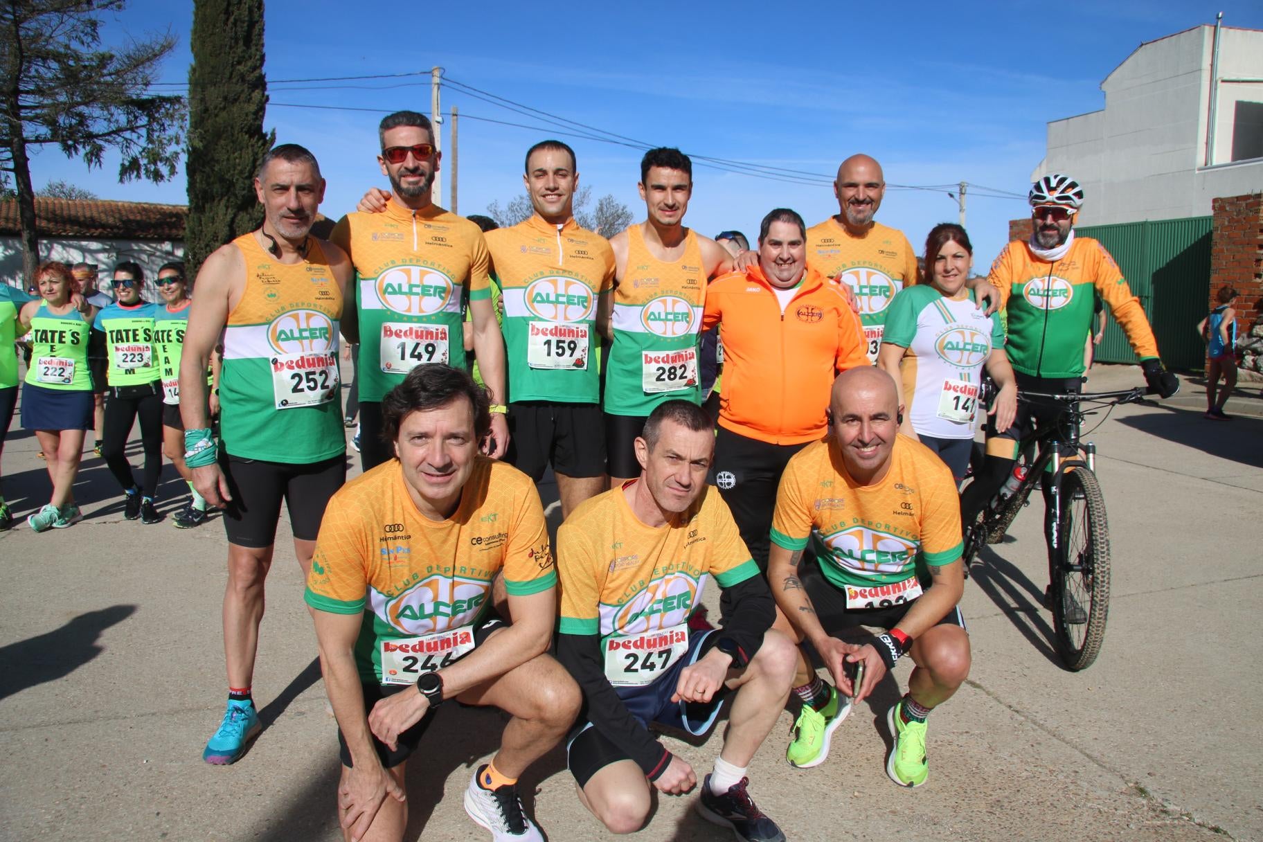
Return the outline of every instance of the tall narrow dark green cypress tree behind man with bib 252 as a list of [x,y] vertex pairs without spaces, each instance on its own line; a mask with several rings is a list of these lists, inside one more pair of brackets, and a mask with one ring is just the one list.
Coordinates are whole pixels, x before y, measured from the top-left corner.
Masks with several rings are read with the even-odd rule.
[[184,247],[192,278],[207,255],[263,220],[254,170],[273,141],[263,131],[263,0],[196,0],[189,45]]

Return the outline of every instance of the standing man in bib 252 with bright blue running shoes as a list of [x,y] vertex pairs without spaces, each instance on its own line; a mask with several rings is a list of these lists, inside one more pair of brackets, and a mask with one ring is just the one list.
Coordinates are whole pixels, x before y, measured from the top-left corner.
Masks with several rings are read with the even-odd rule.
[[[316,157],[298,144],[264,155],[254,178],[263,225],[220,246],[197,273],[179,360],[184,465],[224,510],[229,581],[224,655],[229,698],[206,762],[236,762],[261,730],[251,683],[280,505],[303,574],[330,497],[346,480],[337,345],[351,263],[311,236],[325,198]],[[355,341],[355,326],[341,332]],[[206,369],[222,345],[220,442]]]

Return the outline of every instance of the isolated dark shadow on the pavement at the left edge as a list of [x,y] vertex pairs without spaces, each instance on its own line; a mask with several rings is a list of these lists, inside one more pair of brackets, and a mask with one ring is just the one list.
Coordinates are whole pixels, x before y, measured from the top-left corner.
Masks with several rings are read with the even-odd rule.
[[134,605],[88,611],[48,634],[0,646],[0,699],[69,675],[101,654],[102,631],[135,612]]

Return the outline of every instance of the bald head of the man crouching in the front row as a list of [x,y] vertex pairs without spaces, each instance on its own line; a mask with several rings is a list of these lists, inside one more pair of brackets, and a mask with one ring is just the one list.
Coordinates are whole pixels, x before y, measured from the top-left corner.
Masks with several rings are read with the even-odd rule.
[[899,434],[899,393],[882,369],[860,366],[837,375],[830,395],[831,433],[846,472],[860,485],[885,476]]

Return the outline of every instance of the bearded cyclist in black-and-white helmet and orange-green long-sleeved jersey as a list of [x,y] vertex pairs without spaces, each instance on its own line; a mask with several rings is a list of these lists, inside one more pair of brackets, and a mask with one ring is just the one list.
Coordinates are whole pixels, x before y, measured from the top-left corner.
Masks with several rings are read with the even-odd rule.
[[[1180,380],[1162,366],[1158,343],[1118,264],[1096,240],[1076,237],[1075,216],[1084,188],[1068,175],[1045,175],[1031,187],[1031,239],[1005,246],[988,280],[1000,290],[1008,312],[1009,362],[1019,391],[1075,393],[1082,388],[1084,343],[1092,327],[1094,295],[1109,305],[1140,357],[1144,379],[1163,398],[1180,389]],[[1005,430],[986,429],[986,462],[961,497],[961,518],[973,524],[986,501],[1013,471],[1018,442],[1032,423],[1052,424],[1058,409],[1018,404],[1017,418]],[[1050,526],[1050,490],[1045,490],[1045,533]],[[1051,558],[1050,558],[1051,564]],[[1068,597],[1067,597],[1068,598]],[[1066,606],[1068,622],[1086,622],[1077,606]]]

